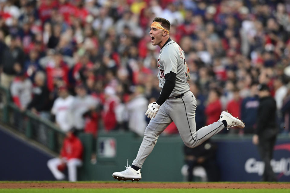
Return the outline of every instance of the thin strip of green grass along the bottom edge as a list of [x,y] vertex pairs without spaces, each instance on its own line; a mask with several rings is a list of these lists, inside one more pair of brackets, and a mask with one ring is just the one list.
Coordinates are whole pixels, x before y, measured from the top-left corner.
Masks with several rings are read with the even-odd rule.
[[51,189],[0,189],[1,193],[289,193],[289,189],[137,189],[137,188],[99,188],[99,189],[63,189],[63,188],[51,188]]

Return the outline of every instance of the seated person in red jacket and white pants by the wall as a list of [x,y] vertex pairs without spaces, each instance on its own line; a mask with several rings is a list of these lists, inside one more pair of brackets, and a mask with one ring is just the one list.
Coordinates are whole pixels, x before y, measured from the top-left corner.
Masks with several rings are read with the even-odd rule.
[[66,138],[63,140],[63,147],[60,151],[60,157],[48,160],[47,166],[57,180],[65,179],[63,170],[67,167],[69,181],[77,180],[77,167],[82,166],[82,142],[74,134],[74,129],[66,132]]

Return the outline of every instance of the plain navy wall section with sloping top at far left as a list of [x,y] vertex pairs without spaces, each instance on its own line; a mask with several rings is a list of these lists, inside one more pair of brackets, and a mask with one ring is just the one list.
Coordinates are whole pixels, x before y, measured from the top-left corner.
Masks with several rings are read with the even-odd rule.
[[0,127],[0,181],[55,180],[46,166],[52,156]]

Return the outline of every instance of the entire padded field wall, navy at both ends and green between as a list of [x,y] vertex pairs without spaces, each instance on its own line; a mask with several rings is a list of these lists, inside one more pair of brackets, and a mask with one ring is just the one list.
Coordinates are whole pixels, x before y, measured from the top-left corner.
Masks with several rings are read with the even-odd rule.
[[[122,171],[134,160],[142,138],[134,133],[99,134],[97,163],[91,163],[92,137],[80,136],[84,147],[84,166],[79,180],[113,180],[112,173]],[[259,181],[263,163],[251,137],[214,136],[218,145],[217,162],[221,181]],[[272,165],[279,181],[290,181],[290,138],[279,137]],[[0,130],[0,180],[54,180],[46,162],[52,156],[24,140]],[[142,181],[183,181],[181,168],[183,143],[179,135],[160,136],[142,168]]]

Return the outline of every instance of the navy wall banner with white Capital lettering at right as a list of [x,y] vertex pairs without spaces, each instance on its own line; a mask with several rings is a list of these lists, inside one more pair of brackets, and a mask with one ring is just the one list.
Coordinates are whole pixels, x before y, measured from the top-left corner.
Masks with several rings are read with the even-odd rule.
[[[217,160],[221,181],[260,181],[264,163],[250,139],[217,141]],[[279,139],[274,147],[271,165],[279,182],[290,181],[290,141]]]

